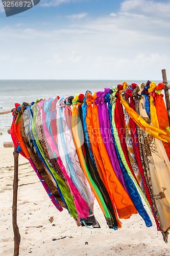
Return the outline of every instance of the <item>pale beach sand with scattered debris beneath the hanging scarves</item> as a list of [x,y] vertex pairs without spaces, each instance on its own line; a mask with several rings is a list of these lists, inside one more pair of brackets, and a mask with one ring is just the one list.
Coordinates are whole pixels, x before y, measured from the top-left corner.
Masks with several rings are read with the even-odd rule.
[[[0,255],[12,255],[13,149],[1,147],[0,150]],[[22,156],[19,156],[18,185],[19,255],[170,255],[170,242],[164,243],[151,213],[152,227],[147,228],[141,217],[135,215],[122,220],[123,227],[115,231],[108,228],[95,200],[94,214],[101,228],[77,227],[67,210],[59,212],[53,206],[31,165]]]

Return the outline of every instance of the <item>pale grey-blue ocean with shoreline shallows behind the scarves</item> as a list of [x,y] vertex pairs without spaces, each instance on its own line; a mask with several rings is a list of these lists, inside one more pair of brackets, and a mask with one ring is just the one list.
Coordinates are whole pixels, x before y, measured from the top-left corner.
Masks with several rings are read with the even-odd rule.
[[[122,84],[124,80],[0,80],[0,112],[12,110],[14,104],[47,99],[57,95],[75,95],[90,90],[92,93],[103,91],[105,87],[111,88]],[[145,80],[127,80],[131,84],[147,82]],[[158,83],[161,81],[155,81]],[[7,134],[12,123],[12,114],[0,115],[0,147],[4,141],[11,141]]]

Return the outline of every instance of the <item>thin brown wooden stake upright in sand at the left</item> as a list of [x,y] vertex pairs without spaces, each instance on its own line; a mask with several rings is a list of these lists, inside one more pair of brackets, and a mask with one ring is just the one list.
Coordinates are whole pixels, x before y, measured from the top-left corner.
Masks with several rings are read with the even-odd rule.
[[14,231],[14,256],[19,255],[20,234],[17,226],[17,192],[18,192],[18,155],[16,149],[14,156],[14,181],[13,181],[13,204],[12,204],[12,224]]

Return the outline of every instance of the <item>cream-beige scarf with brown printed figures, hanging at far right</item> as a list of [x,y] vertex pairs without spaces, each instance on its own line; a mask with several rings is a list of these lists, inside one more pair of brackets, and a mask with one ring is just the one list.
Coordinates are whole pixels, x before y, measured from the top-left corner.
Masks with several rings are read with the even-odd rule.
[[[148,116],[143,108],[144,99],[140,100],[140,115],[147,120]],[[149,136],[148,136],[149,137]],[[159,219],[161,223],[161,231],[163,234],[164,241],[167,243],[167,230],[170,228],[170,193],[169,193],[169,182],[170,182],[170,163],[166,156],[163,143],[155,138],[150,139],[150,150],[154,160],[155,169],[151,173],[151,182],[154,192],[154,198],[159,213]]]

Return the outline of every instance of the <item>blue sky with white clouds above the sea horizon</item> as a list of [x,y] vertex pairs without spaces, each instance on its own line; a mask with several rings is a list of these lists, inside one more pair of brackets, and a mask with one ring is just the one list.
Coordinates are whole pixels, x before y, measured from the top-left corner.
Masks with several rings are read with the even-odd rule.
[[170,0],[1,4],[0,46],[0,79],[170,80]]

